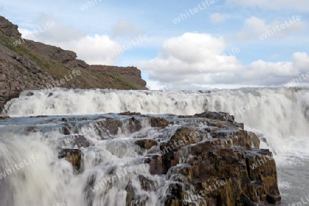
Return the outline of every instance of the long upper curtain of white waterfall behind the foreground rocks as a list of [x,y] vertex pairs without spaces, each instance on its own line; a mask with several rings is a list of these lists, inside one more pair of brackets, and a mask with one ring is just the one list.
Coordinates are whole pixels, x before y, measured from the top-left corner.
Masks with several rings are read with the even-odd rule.
[[[33,93],[32,96],[29,94]],[[309,89],[244,88],[213,91],[67,90],[23,91],[4,107],[12,117],[89,115],[136,111],[144,114],[194,115],[225,111],[237,122],[273,137],[309,133]],[[277,139],[279,140],[279,139]]]

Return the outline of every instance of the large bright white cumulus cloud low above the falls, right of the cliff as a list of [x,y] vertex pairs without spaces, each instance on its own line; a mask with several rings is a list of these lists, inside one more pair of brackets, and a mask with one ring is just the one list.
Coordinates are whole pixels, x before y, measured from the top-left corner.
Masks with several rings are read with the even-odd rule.
[[236,56],[224,56],[224,50],[223,38],[185,33],[165,41],[157,58],[139,62],[138,67],[148,73],[151,81],[172,83],[174,89],[282,85],[309,67],[306,53],[296,52],[292,62],[256,60],[242,65]]

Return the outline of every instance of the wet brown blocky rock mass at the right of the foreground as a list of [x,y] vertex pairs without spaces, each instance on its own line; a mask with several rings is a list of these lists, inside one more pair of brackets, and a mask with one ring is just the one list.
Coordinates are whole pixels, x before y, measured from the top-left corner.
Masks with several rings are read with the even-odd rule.
[[[169,178],[177,175],[174,180],[183,182],[185,179],[196,192],[214,188],[217,181],[222,181],[223,185],[203,196],[207,205],[280,201],[275,161],[269,150],[258,149],[257,135],[243,130],[243,124],[234,122],[228,113],[179,117],[202,118],[207,126],[179,126],[168,141],[158,141],[159,155],[145,161],[150,165],[150,174],[168,174]],[[180,165],[180,159],[185,165]],[[256,163],[257,167],[252,168]],[[182,191],[179,185],[172,185],[163,205],[184,204]]]

